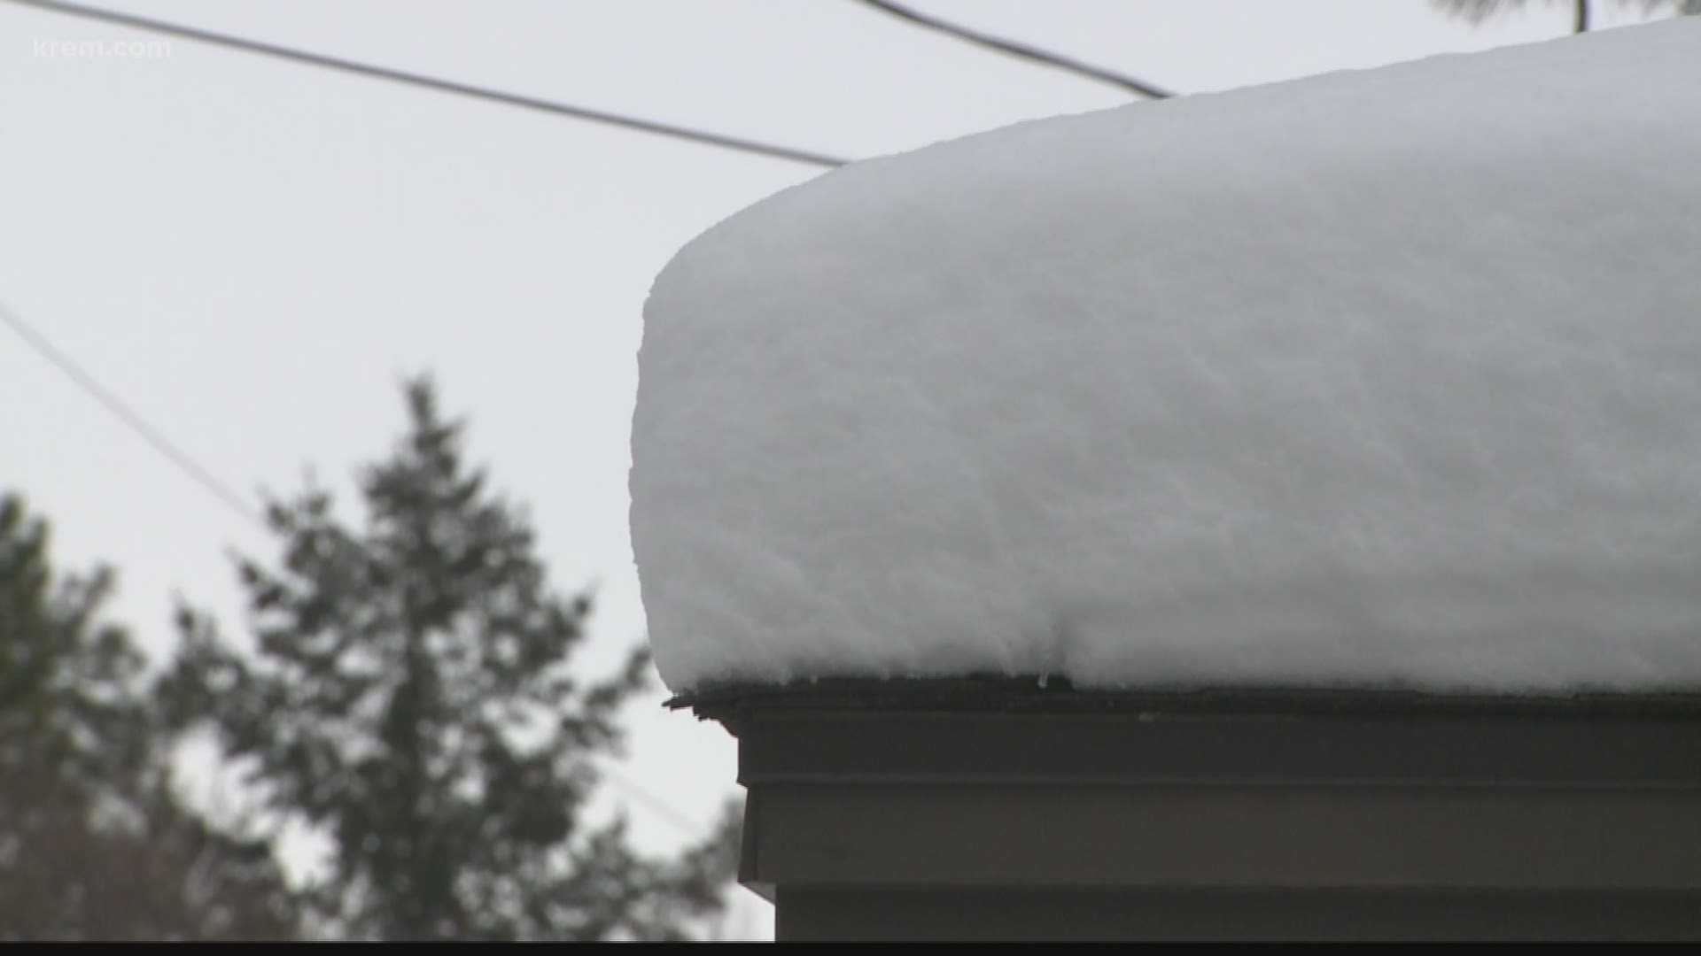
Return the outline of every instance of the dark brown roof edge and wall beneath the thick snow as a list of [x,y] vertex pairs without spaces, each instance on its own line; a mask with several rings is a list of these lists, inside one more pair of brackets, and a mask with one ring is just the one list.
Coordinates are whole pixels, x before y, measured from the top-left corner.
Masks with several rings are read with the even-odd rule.
[[687,696],[805,939],[1701,939],[1701,697]]

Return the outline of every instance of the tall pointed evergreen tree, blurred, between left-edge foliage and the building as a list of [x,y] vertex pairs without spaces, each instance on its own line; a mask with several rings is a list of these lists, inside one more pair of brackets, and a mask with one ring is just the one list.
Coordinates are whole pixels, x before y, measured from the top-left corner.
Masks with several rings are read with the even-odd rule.
[[311,902],[356,939],[679,937],[721,905],[733,828],[677,861],[582,818],[594,755],[648,680],[585,684],[587,595],[546,582],[526,515],[463,463],[429,379],[361,473],[362,531],[308,487],[267,507],[281,566],[238,558],[255,652],[184,609],[177,723],[209,723],[270,810],[333,842]]

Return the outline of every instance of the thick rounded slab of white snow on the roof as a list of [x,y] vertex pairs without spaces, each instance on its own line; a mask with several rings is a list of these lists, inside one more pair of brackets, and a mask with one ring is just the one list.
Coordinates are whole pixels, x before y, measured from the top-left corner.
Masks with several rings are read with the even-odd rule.
[[645,306],[674,691],[1701,687],[1701,19],[852,163]]

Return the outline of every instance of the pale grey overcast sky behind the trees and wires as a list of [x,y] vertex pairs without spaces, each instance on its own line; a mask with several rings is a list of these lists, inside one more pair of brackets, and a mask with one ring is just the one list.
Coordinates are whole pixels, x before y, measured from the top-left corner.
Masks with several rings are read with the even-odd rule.
[[[842,156],[1126,94],[850,0],[99,0],[316,53]],[[1568,3],[1482,26],[1429,0],[915,0],[1184,92],[1562,36]],[[1604,27],[1640,3],[1597,3]],[[0,2],[0,303],[242,493],[356,466],[430,373],[524,504],[558,589],[595,583],[587,670],[645,636],[626,471],[641,310],[687,240],[822,170]],[[112,617],[170,650],[174,595],[240,629],[230,549],[276,546],[0,328],[0,488],[61,566],[114,565]],[[352,514],[352,512],[345,512]],[[614,796],[665,851],[735,793],[718,725],[628,713]],[[636,789],[633,789],[636,788]],[[764,936],[742,893],[733,932]]]

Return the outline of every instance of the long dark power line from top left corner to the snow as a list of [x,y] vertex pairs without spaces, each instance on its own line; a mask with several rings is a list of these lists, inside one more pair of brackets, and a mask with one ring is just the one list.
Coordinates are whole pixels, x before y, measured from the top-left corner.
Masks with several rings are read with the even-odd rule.
[[369,63],[359,63],[354,60],[342,60],[338,56],[327,56],[321,53],[311,53],[306,49],[294,49],[287,46],[277,46],[270,43],[260,43],[253,39],[243,39],[238,36],[204,31],[199,27],[185,27],[180,24],[170,24],[165,20],[153,20],[148,17],[134,17],[129,14],[116,14],[112,10],[102,10],[99,7],[85,7],[82,3],[65,3],[61,0],[5,0],[19,7],[34,7],[37,10],[49,10],[53,14],[63,14],[68,17],[83,17],[90,20],[100,20],[105,24],[116,24],[122,27],[133,27],[139,31],[148,31],[155,34],[174,36],[180,39],[192,39],[199,43],[209,43],[214,46],[223,46],[230,49],[240,49],[245,53],[259,53],[264,56],[276,56],[279,60],[287,60],[293,63],[310,63],[313,66],[323,66],[328,70],[340,70],[344,73],[354,73],[359,77],[371,77],[378,80],[390,80],[395,83],[405,83],[412,87],[422,87],[427,90],[435,90],[441,94],[454,94],[461,97],[469,97],[485,102],[498,102],[503,105],[514,105],[521,109],[532,109],[538,112],[546,112],[551,116],[565,116],[570,119],[582,119],[587,122],[600,122],[604,126],[614,126],[619,129],[631,129],[638,133],[650,133],[655,136],[670,136],[674,139],[684,139],[689,143],[697,143],[699,146],[718,146],[723,150],[737,150],[740,153],[750,153],[757,156],[767,156],[771,160],[788,160],[793,163],[806,163],[813,167],[842,167],[849,160],[840,156],[828,156],[825,153],[815,153],[811,150],[794,150],[791,146],[777,146],[772,143],[762,143],[757,139],[743,139],[740,136],[726,136],[723,133],[709,133],[704,129],[691,129],[686,126],[674,126],[670,122],[660,122],[655,119],[641,119],[634,116],[624,116],[617,112],[609,112],[602,109],[592,109],[583,105],[561,104],[553,100],[544,100],[538,97],[527,97],[521,94],[509,94],[503,90],[492,90],[488,87],[475,87],[471,83],[458,83],[454,80],[439,80],[435,77],[425,77],[422,73],[410,73],[407,70],[391,70],[388,66],[373,66]]

